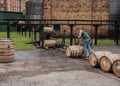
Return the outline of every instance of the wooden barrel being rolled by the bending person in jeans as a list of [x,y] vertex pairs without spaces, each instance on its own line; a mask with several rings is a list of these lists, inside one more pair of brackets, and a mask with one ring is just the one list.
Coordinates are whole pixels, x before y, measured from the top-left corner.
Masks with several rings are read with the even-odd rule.
[[83,47],[80,45],[69,46],[66,49],[67,57],[78,57],[83,54]]

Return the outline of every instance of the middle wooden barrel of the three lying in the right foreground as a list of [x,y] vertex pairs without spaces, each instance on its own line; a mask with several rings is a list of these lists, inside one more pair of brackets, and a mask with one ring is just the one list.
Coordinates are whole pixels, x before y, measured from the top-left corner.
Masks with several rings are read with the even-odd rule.
[[115,60],[119,59],[119,55],[118,54],[109,54],[107,56],[103,56],[100,59],[100,67],[103,71],[108,72],[108,71],[112,71],[112,64]]

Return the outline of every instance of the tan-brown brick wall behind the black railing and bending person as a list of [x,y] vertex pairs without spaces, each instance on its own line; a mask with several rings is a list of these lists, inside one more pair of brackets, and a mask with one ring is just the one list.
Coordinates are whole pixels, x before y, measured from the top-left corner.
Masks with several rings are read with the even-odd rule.
[[[44,0],[43,18],[107,20],[109,19],[109,0]],[[76,26],[74,27],[74,33],[80,28],[83,28],[89,34],[94,34],[92,26]],[[99,28],[98,33],[106,36],[108,26]],[[68,26],[62,26],[60,33],[62,34],[64,29],[66,29],[69,35]]]

